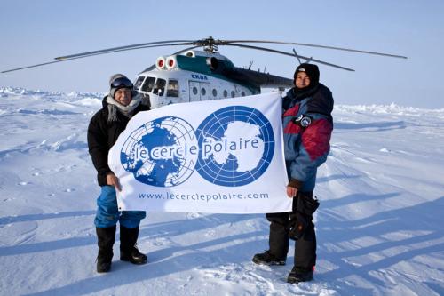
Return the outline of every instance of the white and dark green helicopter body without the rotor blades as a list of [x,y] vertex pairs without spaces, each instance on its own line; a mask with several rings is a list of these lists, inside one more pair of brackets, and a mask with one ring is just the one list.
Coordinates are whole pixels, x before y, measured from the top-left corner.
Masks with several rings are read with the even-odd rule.
[[139,74],[134,88],[149,98],[151,108],[260,93],[260,86],[227,75],[233,69],[233,63],[219,53],[189,51],[159,57],[155,67]]

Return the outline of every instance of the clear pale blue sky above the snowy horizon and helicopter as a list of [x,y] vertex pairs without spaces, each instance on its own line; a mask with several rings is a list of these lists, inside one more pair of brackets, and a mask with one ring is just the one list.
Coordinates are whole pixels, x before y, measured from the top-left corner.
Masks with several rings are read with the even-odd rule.
[[[297,53],[341,66],[320,66],[337,104],[444,108],[444,2],[337,1],[2,1],[0,69],[54,57],[159,40],[260,39],[387,52],[408,60],[297,46]],[[291,46],[273,45],[292,52]],[[180,48],[117,52],[0,74],[0,87],[107,92],[108,78],[131,79],[158,56]],[[219,47],[236,66],[291,77],[297,60],[270,52]]]

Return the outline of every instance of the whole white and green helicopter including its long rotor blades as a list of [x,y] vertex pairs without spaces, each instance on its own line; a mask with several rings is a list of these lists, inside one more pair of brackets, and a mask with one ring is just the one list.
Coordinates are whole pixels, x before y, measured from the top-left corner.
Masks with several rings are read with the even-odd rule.
[[[22,68],[13,68],[2,71],[1,73],[17,71],[25,68],[35,68],[60,61],[82,59],[112,52],[123,52],[161,46],[191,45],[190,47],[172,53],[169,56],[158,57],[155,60],[154,65],[141,71],[134,80],[134,91],[139,92],[151,108],[160,108],[165,105],[182,102],[218,100],[254,95],[260,93],[261,88],[264,87],[277,88],[279,91],[284,91],[286,88],[290,88],[294,85],[293,79],[271,75],[265,73],[265,71],[260,72],[259,70],[255,71],[250,69],[251,63],[249,68],[234,66],[234,63],[231,60],[218,52],[218,46],[220,45],[283,54],[292,58],[297,58],[299,64],[302,63],[302,60],[305,60],[305,62],[316,62],[333,68],[354,71],[353,68],[345,68],[323,60],[313,59],[313,57],[302,56],[297,54],[295,48],[293,48],[293,52],[282,52],[251,44],[289,44],[293,46],[308,46],[407,59],[405,56],[396,54],[361,51],[320,44],[302,44],[266,40],[220,40],[210,36],[199,40],[155,41],[144,44],[131,44],[107,48],[99,51],[75,53],[57,57],[50,62]],[[203,47],[203,50],[195,50],[199,47]]]

